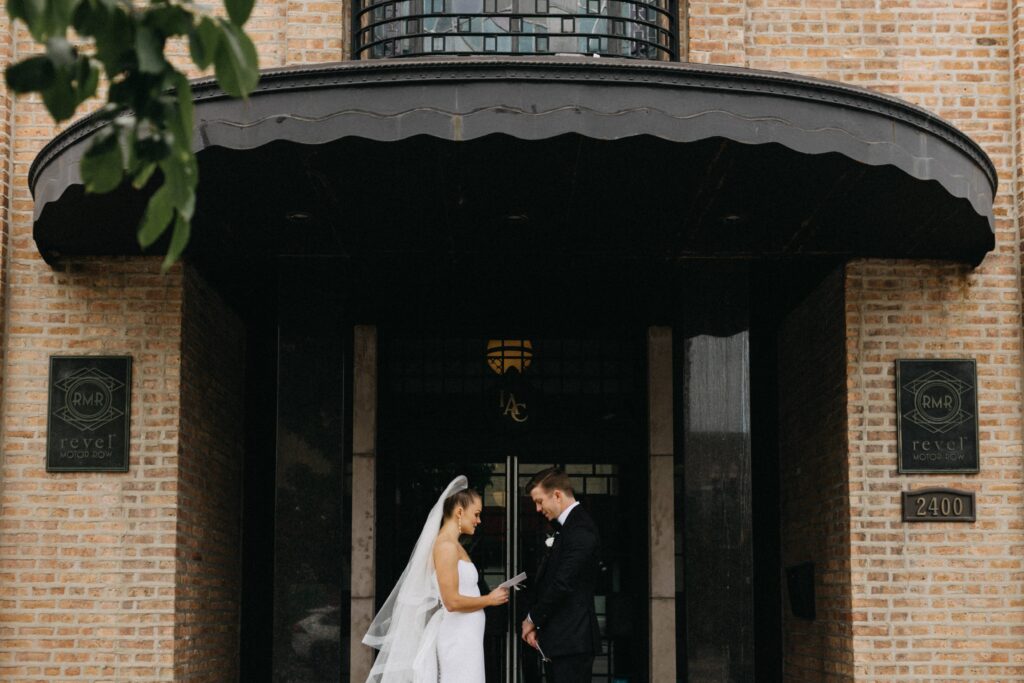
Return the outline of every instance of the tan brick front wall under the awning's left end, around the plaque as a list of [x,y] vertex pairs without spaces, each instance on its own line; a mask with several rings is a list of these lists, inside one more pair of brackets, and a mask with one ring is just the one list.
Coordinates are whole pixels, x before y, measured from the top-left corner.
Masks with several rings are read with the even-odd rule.
[[[0,680],[170,680],[180,273],[50,269],[15,225],[0,426]],[[50,354],[131,354],[130,471],[47,474]]]

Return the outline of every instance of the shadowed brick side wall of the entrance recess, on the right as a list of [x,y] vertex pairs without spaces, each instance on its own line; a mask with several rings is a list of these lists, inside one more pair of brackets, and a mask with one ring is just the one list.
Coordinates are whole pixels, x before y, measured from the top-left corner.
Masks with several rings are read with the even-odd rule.
[[816,615],[783,605],[786,681],[852,680],[844,275],[824,280],[778,334],[782,566],[814,563]]

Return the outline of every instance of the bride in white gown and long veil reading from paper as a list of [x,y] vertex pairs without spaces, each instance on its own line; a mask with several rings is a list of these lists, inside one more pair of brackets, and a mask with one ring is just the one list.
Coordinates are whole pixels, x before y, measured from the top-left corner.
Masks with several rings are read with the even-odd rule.
[[480,523],[483,502],[458,476],[427,514],[409,564],[362,642],[380,650],[367,683],[483,683],[483,608],[508,602],[485,596],[459,543]]

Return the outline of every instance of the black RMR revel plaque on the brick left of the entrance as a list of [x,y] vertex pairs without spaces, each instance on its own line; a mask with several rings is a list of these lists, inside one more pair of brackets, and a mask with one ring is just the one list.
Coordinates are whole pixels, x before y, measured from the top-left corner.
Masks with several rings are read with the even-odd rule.
[[47,472],[127,472],[130,356],[50,356]]

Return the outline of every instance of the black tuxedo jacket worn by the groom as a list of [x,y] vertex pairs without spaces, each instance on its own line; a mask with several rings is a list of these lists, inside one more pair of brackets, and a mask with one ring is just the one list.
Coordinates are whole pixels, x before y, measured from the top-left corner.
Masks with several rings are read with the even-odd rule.
[[541,649],[549,657],[596,654],[601,633],[594,612],[601,539],[582,505],[569,513],[538,568],[529,604]]

